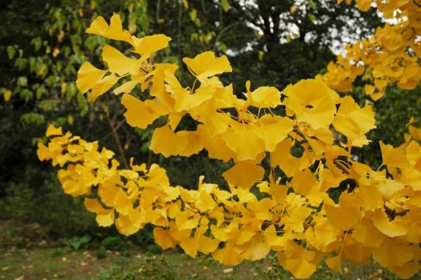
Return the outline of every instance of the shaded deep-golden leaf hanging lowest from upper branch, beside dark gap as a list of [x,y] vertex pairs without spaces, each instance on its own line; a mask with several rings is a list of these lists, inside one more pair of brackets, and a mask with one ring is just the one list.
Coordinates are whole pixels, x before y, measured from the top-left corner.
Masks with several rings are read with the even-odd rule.
[[262,180],[265,170],[260,165],[238,162],[222,173],[225,180],[238,187],[249,189],[255,182]]

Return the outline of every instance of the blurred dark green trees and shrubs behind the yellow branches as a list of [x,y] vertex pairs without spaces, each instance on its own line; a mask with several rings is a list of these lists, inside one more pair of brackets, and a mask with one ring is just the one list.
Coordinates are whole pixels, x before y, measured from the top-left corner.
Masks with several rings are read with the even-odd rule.
[[[328,62],[342,52],[345,43],[367,37],[382,25],[375,9],[362,13],[353,5],[337,5],[336,1],[328,0],[1,1],[0,279],[15,276],[50,279],[54,275],[66,278],[76,275],[81,267],[86,275],[92,272],[92,277],[98,272],[105,278],[131,279],[124,278],[108,262],[98,264],[103,265],[99,270],[91,267],[93,264],[86,260],[86,254],[98,260],[108,255],[122,254],[132,259],[137,252],[152,255],[161,252],[154,245],[150,228],[129,238],[118,235],[115,228],[99,228],[95,215],[84,209],[81,199],[62,192],[56,170],[50,163],[38,161],[35,153],[36,143],[48,124],[61,125],[65,131],[89,141],[98,140],[101,146],[115,151],[120,161],[134,157],[137,163],[163,165],[173,185],[194,188],[199,175],[205,175],[207,182],[223,184],[220,170],[224,163],[209,160],[205,153],[191,158],[157,156],[148,149],[150,130],[133,129],[123,121],[120,97],[106,94],[91,103],[77,91],[79,67],[89,60],[100,68],[103,65],[100,54],[107,44],[104,38],[88,35],[85,30],[93,18],[103,16],[109,20],[113,12],[120,13],[125,28],[137,37],[163,33],[173,38],[170,47],[155,59],[178,64],[178,76],[185,86],[192,83],[192,78],[181,61],[183,57],[194,57],[205,50],[226,54],[233,73],[224,76],[225,82],[232,82],[238,94],[245,91],[247,80],[253,88],[270,85],[282,90],[289,83],[313,78],[323,73]],[[116,46],[114,42],[113,45]],[[352,94],[360,105],[371,104],[361,81],[357,81]],[[378,166],[381,160],[378,141],[402,143],[404,124],[411,116],[420,117],[420,102],[420,86],[413,91],[390,86],[386,97],[373,104],[378,128],[369,134],[372,144],[356,150],[355,156]],[[33,259],[28,261],[28,254],[36,254],[39,247],[46,248],[42,252],[47,255],[41,255],[38,264]],[[69,274],[65,270],[60,272],[63,270],[60,266],[54,268],[53,264],[42,261],[44,256],[61,265],[69,262],[63,260],[68,258],[65,257],[68,252],[72,252],[75,265],[78,264]],[[153,262],[155,267],[139,268],[138,262],[134,270],[150,270],[154,272],[150,275],[161,275],[157,273],[167,273],[162,267],[177,266],[183,259],[180,256],[178,260],[161,256],[159,261],[153,257],[147,261],[146,257],[140,263]],[[25,258],[28,269],[24,268],[26,261],[19,264],[21,270],[13,267],[15,261]],[[184,262],[190,262],[186,259]],[[200,269],[216,265],[206,262],[204,259],[195,265]],[[86,265],[80,267],[83,263]],[[113,262],[113,265],[118,268],[120,264]],[[254,273],[256,277],[270,276],[269,272],[260,273],[251,264],[247,265],[251,268],[244,269],[251,269],[253,274],[231,269],[222,275],[237,273],[236,278],[245,279]],[[263,267],[273,265],[269,259]],[[367,275],[380,273],[376,268],[371,270]],[[171,273],[167,275],[170,279],[178,277],[177,272]],[[30,275],[35,276],[30,278]],[[79,276],[69,279],[83,279],[82,274]]]

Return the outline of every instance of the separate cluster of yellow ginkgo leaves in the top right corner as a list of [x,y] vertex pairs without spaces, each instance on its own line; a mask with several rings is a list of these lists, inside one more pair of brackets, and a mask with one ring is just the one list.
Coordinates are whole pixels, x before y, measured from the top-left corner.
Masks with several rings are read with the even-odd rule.
[[[342,0],[338,0],[338,3]],[[351,0],[346,1],[351,4]],[[415,88],[421,79],[418,59],[421,57],[421,6],[411,0],[356,0],[361,11],[371,6],[393,21],[379,27],[368,39],[345,47],[345,56],[328,64],[327,72],[319,75],[330,88],[340,92],[352,90],[358,76],[371,81],[365,93],[373,100],[381,98],[389,83],[403,89]]]

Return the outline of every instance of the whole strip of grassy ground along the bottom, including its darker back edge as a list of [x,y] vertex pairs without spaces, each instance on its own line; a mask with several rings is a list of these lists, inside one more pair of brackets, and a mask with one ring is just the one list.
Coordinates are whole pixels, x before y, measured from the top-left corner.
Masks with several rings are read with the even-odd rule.
[[[274,255],[226,267],[204,255],[192,259],[180,249],[157,254],[132,244],[120,246],[121,251],[118,247],[107,250],[89,244],[75,249],[46,240],[31,242],[17,233],[22,233],[22,228],[0,221],[0,280],[293,279],[277,265]],[[71,240],[75,243],[77,238]],[[376,264],[345,267],[345,273],[338,274],[321,265],[311,279],[397,279]]]

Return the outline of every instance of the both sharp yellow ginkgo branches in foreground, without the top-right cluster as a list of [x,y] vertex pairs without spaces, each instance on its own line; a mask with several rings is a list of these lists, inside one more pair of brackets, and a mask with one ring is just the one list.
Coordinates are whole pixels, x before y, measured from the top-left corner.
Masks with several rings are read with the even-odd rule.
[[[38,157],[59,166],[64,192],[84,197],[100,226],[115,224],[131,235],[151,224],[163,249],[178,245],[191,257],[212,255],[227,265],[273,251],[300,279],[323,259],[336,272],[342,260],[364,264],[371,257],[402,278],[420,271],[421,129],[413,119],[403,145],[379,143],[383,163],[373,170],[352,156],[376,127],[371,106],[339,95],[323,78],[282,91],[246,81],[244,92],[234,93],[219,78],[232,71],[229,60],[208,51],[183,59],[194,80],[186,86],[177,65],[154,61],[170,37],[135,37],[117,14],[110,23],[96,18],[86,31],[127,43],[129,56],[106,45],[107,67],[85,62],[79,91],[96,100],[114,87],[132,127],[146,129],[161,119],[163,125],[153,127],[154,153],[206,151],[230,166],[222,173],[226,187],[200,177],[197,189],[185,189],[171,185],[156,164],[132,159],[120,168],[98,141],[48,127],[50,141],[38,143]],[[184,129],[184,117],[195,129]],[[333,195],[340,186],[345,191]]]

